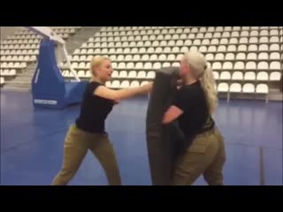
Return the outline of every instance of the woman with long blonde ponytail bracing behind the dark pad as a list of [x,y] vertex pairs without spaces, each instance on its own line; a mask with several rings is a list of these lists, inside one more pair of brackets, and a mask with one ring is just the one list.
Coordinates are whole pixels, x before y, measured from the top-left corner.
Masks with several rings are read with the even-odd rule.
[[224,139],[211,117],[218,96],[203,54],[187,52],[180,61],[180,77],[184,85],[163,119],[164,124],[177,119],[185,138],[172,173],[172,185],[191,185],[202,174],[209,185],[223,185]]

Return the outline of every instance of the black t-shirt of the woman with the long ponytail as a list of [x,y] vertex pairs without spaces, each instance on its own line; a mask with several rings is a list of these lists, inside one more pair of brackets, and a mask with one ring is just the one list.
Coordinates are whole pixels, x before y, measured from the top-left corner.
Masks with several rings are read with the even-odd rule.
[[184,111],[178,117],[178,122],[180,129],[188,139],[194,139],[198,133],[210,130],[214,126],[199,80],[181,87],[173,105]]

